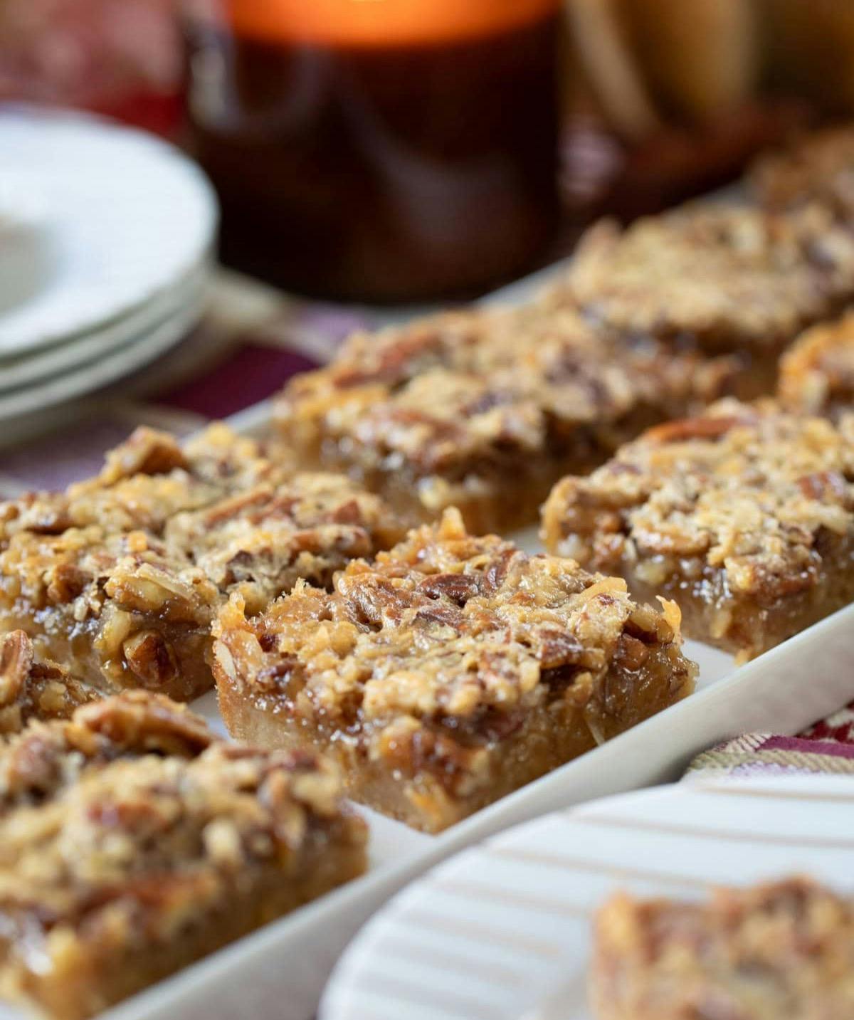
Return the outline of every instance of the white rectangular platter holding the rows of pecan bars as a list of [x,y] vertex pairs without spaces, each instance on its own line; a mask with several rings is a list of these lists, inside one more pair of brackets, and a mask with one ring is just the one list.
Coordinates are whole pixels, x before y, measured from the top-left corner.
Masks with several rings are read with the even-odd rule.
[[[542,275],[495,297],[523,298]],[[233,424],[256,431],[269,420],[259,405]],[[518,536],[531,551],[536,533]],[[627,733],[557,769],[440,836],[365,811],[370,868],[256,934],[209,957],[105,1014],[110,1020],[309,1020],[324,982],[355,931],[416,875],[504,828],[606,795],[679,778],[693,756],[746,731],[795,733],[854,699],[854,606],[748,665],[689,642],[700,664],[697,693]],[[196,706],[221,726],[215,699]]]

